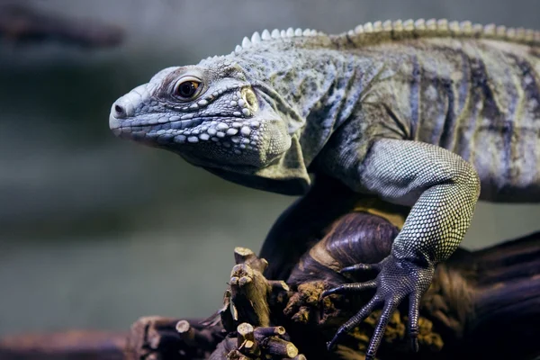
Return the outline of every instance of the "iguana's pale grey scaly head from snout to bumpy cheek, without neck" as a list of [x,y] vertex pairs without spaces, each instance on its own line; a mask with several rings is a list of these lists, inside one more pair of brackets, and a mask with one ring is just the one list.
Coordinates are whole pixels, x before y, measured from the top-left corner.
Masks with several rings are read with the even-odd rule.
[[109,124],[206,167],[261,168],[291,146],[275,101],[226,57],[160,71],[112,104]]

